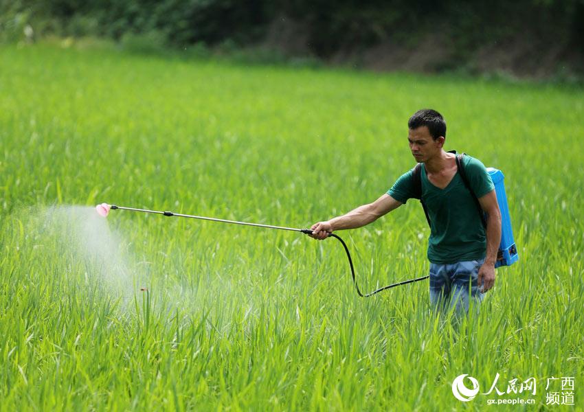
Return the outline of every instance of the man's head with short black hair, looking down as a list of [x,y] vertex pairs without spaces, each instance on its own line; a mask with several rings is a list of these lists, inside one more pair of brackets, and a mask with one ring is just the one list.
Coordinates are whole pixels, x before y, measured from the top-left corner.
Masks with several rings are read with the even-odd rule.
[[407,122],[409,149],[418,162],[440,153],[446,140],[444,117],[431,108],[418,110]]

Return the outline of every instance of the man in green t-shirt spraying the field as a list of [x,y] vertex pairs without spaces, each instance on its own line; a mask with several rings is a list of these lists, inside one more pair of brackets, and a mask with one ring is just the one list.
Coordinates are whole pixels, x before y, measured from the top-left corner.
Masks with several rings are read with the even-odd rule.
[[[479,304],[495,284],[495,260],[501,240],[501,214],[495,187],[484,165],[465,155],[464,173],[487,215],[486,229],[475,198],[458,172],[456,153],[443,149],[446,122],[431,109],[409,118],[409,149],[421,164],[421,196],[430,220],[430,302],[468,312],[470,299]],[[414,169],[403,174],[377,201],[344,216],[315,223],[313,238],[335,230],[368,225],[416,196]]]

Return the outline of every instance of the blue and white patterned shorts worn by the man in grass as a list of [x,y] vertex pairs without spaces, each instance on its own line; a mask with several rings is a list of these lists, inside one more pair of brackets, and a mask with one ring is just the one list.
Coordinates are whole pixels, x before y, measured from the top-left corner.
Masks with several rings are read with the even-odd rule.
[[453,264],[430,263],[430,304],[433,308],[456,308],[469,312],[472,298],[480,306],[484,293],[479,290],[478,273],[484,259]]

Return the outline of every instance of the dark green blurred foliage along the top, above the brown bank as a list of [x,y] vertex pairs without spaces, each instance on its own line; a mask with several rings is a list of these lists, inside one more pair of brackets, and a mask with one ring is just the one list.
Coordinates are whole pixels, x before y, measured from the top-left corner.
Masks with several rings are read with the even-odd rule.
[[[23,25],[31,24],[38,35],[121,39],[138,34],[160,47],[246,47],[265,39],[278,19],[302,24],[296,35],[305,37],[305,53],[317,58],[388,40],[414,47],[428,34],[445,38],[451,49],[450,60],[436,69],[460,67],[478,47],[506,47],[518,38],[519,47],[553,50],[559,62],[582,60],[584,50],[583,0],[0,1],[5,39],[21,37]],[[524,58],[537,61],[529,50]],[[576,60],[574,69],[582,69]]]

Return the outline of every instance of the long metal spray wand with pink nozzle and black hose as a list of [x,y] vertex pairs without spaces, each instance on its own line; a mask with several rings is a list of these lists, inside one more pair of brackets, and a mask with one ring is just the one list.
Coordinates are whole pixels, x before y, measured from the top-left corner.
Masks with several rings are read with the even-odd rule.
[[[245,225],[245,226],[263,227],[265,229],[277,229],[277,230],[296,231],[296,232],[304,233],[306,235],[312,235],[312,233],[313,233],[312,229],[297,229],[295,227],[282,227],[282,226],[273,226],[273,225],[261,225],[260,223],[238,222],[237,220],[226,220],[226,219],[217,219],[217,218],[207,218],[205,216],[194,216],[194,215],[188,215],[188,214],[180,214],[180,213],[174,213],[172,211],[159,211],[159,210],[148,210],[148,209],[136,209],[134,207],[123,207],[123,206],[116,206],[116,205],[108,205],[107,203],[102,203],[101,205],[97,205],[96,206],[96,209],[98,211],[98,214],[100,214],[101,216],[104,216],[104,217],[106,217],[109,214],[110,209],[113,209],[113,210],[119,209],[119,210],[141,211],[143,213],[161,214],[163,216],[177,216],[179,218],[192,218],[192,219],[201,219],[201,220],[211,220],[212,222],[231,223],[232,225]],[[398,283],[395,283],[395,284],[390,284],[388,286],[383,286],[383,288],[379,288],[377,290],[374,290],[371,293],[366,293],[365,295],[363,295],[363,293],[361,293],[361,290],[359,289],[359,286],[357,286],[357,280],[355,279],[355,268],[353,267],[353,262],[352,262],[352,259],[351,259],[351,254],[349,253],[349,249],[348,249],[346,243],[339,236],[335,235],[335,233],[329,233],[328,236],[329,237],[333,237],[333,238],[339,240],[339,242],[341,242],[341,244],[343,245],[343,247],[345,249],[345,253],[347,254],[347,259],[349,261],[349,267],[350,267],[350,270],[351,270],[353,284],[355,284],[355,289],[357,290],[357,294],[360,297],[370,297],[372,295],[375,295],[376,293],[381,292],[382,290],[394,288],[396,286],[401,286],[401,285],[409,284],[409,283],[412,283],[412,282],[418,282],[420,280],[427,279],[429,277],[429,276],[417,277],[415,279],[409,279],[409,280],[405,280],[403,282],[398,282]]]

